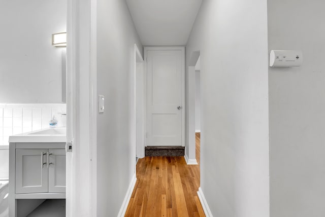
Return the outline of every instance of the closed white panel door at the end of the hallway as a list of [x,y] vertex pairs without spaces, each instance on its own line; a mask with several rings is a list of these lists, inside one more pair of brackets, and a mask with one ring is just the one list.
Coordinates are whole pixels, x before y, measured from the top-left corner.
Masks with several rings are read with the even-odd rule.
[[184,50],[147,50],[147,146],[182,146]]

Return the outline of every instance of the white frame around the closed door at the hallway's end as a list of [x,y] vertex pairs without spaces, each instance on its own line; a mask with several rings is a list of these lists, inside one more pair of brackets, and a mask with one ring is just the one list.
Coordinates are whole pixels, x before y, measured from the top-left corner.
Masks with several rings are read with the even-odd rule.
[[147,128],[147,116],[148,116],[148,111],[147,111],[147,107],[148,107],[148,100],[147,100],[147,96],[148,96],[148,82],[147,82],[147,52],[150,50],[181,50],[182,51],[182,138],[181,138],[181,146],[185,146],[185,112],[186,112],[186,106],[185,106],[185,47],[184,46],[144,46],[144,78],[145,78],[145,132],[146,132],[146,136],[145,136],[145,146],[147,146],[147,132],[148,132],[148,128]]

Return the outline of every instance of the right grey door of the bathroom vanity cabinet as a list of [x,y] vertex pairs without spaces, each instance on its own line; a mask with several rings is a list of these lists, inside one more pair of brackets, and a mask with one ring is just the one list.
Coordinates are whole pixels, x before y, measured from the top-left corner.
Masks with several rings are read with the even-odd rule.
[[66,193],[66,150],[49,149],[49,192]]

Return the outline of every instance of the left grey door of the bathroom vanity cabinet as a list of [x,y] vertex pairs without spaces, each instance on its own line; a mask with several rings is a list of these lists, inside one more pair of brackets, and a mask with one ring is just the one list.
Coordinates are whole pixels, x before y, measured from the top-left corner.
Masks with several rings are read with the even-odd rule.
[[16,194],[48,190],[47,149],[16,150]]

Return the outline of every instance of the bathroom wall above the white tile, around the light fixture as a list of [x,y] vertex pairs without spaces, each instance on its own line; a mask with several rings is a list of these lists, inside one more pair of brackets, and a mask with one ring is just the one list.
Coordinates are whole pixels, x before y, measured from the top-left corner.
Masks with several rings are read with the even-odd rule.
[[64,0],[0,2],[0,102],[62,102],[64,48],[51,37],[66,31],[66,13]]

